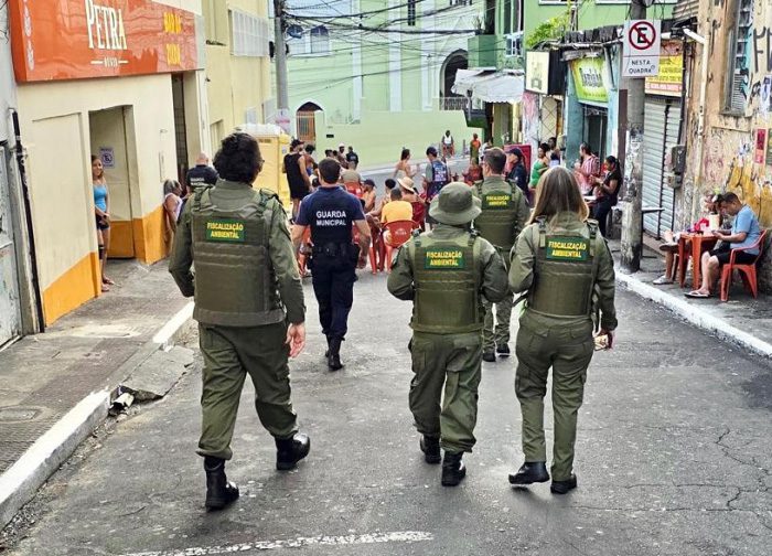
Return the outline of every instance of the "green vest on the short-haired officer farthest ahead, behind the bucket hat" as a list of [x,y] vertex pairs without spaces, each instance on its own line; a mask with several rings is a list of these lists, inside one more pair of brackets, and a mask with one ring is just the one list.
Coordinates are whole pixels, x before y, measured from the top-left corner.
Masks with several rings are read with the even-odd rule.
[[517,204],[523,192],[504,183],[504,188],[489,193],[480,191],[482,213],[474,220],[474,229],[495,247],[508,252],[521,233],[517,225]]

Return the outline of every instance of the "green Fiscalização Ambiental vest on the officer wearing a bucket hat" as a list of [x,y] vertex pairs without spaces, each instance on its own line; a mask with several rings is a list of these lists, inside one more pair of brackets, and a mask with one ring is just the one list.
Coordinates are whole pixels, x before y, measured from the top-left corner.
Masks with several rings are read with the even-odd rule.
[[476,234],[464,234],[458,239],[415,234],[414,242],[412,330],[437,334],[482,330]]

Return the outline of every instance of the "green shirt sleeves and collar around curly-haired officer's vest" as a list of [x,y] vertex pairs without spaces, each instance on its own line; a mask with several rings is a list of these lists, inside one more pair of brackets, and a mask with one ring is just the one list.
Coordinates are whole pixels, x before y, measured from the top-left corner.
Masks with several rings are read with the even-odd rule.
[[[217,182],[216,193],[213,190],[213,195],[217,197],[217,203],[222,204],[223,207],[236,209],[251,199],[253,191],[244,183],[221,180]],[[180,217],[169,258],[169,271],[185,297],[192,297],[195,292],[194,275],[191,272],[191,266],[194,263],[191,232],[193,205],[193,199],[185,203],[185,210]],[[274,197],[268,201],[266,216],[269,217],[270,222],[268,256],[274,267],[279,297],[287,311],[287,320],[292,324],[299,324],[305,320],[303,287],[298,274],[292,239],[287,228],[287,214],[278,199]]]

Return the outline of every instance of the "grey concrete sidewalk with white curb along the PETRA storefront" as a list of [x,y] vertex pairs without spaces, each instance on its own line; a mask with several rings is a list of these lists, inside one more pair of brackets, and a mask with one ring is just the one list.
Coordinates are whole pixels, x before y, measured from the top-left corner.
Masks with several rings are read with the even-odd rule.
[[0,352],[0,528],[101,423],[138,370],[150,382],[175,379],[159,367],[184,372],[184,355],[172,352],[179,365],[170,365],[164,350],[185,331],[192,303],[165,261],[108,265],[118,284],[110,292]]

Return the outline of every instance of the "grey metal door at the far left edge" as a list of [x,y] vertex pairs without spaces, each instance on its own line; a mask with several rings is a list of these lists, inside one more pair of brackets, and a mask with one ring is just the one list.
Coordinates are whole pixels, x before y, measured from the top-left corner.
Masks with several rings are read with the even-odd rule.
[[19,274],[7,156],[4,143],[0,143],[0,346],[21,334]]

